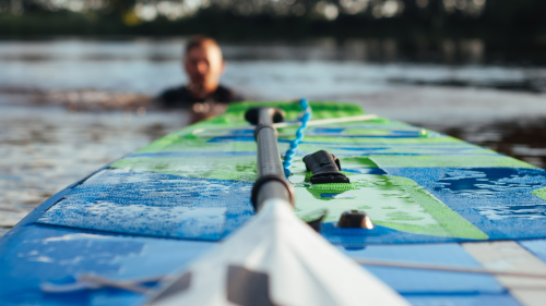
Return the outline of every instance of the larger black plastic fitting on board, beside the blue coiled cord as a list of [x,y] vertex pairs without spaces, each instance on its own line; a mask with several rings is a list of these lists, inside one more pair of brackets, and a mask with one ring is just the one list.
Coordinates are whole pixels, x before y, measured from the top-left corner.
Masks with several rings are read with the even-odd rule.
[[340,172],[340,159],[325,150],[304,157],[304,162],[307,171],[312,172],[312,184],[351,183],[348,178]]

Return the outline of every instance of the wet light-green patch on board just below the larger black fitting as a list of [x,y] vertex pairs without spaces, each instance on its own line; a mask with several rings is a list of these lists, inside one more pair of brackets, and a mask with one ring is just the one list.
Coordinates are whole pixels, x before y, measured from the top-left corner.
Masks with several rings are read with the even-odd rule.
[[[351,175],[351,184],[332,184],[329,188],[323,186],[328,184],[311,185],[301,183],[302,178],[293,176],[290,181],[299,182],[295,184],[295,211],[300,218],[314,210],[327,209],[329,213],[324,222],[337,222],[344,211],[363,209],[375,224],[397,231],[458,238],[488,238],[484,232],[410,179],[355,174]],[[321,197],[332,193],[340,193],[342,198],[331,200],[331,197]]]

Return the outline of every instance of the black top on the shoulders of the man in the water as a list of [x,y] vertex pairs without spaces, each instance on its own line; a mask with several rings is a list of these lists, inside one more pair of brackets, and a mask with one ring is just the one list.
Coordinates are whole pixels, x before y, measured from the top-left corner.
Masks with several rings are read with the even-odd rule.
[[192,97],[186,86],[167,89],[157,97],[158,105],[167,109],[191,108],[194,103],[230,103],[242,100],[241,96],[222,85],[204,98]]

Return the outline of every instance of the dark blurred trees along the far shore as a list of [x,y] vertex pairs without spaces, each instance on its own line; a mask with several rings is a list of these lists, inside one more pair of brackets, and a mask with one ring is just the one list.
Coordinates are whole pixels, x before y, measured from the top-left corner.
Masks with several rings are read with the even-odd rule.
[[0,36],[480,38],[546,45],[545,0],[0,0]]

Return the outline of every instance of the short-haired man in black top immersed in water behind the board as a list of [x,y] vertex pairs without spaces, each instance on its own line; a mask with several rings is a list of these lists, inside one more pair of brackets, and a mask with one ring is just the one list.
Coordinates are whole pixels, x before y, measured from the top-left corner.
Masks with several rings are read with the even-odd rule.
[[188,84],[169,88],[157,98],[166,109],[191,109],[206,118],[223,112],[225,105],[242,97],[219,84],[226,62],[218,44],[205,36],[193,36],[186,45],[183,69]]

